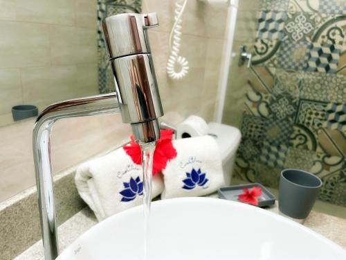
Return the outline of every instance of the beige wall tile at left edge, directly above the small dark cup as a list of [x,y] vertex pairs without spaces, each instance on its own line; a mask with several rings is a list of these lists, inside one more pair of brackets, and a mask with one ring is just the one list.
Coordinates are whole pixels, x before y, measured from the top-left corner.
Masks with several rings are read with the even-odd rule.
[[19,69],[0,69],[0,114],[11,113],[11,107],[22,103]]

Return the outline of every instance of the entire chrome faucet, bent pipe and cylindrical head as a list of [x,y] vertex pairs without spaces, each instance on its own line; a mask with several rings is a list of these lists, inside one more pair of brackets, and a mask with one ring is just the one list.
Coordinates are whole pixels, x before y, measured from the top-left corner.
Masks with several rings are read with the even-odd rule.
[[160,138],[158,117],[163,116],[163,108],[147,37],[147,28],[152,26],[158,26],[156,13],[126,13],[106,18],[103,31],[116,92],[55,103],[37,118],[33,130],[33,153],[46,260],[56,259],[59,254],[50,148],[55,121],[121,112],[122,121],[131,124],[138,144]]

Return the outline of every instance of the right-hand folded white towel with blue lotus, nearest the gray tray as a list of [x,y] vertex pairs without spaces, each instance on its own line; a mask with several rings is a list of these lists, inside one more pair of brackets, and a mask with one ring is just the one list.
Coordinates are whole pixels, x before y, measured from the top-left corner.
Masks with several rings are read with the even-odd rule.
[[165,189],[161,198],[203,196],[224,182],[219,146],[210,136],[173,141],[178,155],[163,170]]

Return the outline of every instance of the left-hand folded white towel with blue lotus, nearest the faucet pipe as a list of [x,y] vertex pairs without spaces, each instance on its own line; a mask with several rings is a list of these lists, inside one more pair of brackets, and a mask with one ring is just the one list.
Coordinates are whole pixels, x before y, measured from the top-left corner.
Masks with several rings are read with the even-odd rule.
[[[79,166],[75,184],[99,221],[143,202],[142,166],[134,164],[122,148]],[[152,198],[162,191],[163,180],[157,174]]]

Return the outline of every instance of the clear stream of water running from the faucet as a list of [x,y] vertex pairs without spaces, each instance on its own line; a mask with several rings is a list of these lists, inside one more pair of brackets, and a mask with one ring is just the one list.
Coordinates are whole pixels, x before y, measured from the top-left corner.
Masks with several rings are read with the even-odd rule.
[[148,260],[149,220],[152,205],[152,164],[156,141],[140,144],[143,164],[143,209],[144,209],[144,260]]

